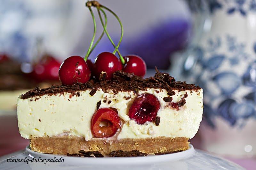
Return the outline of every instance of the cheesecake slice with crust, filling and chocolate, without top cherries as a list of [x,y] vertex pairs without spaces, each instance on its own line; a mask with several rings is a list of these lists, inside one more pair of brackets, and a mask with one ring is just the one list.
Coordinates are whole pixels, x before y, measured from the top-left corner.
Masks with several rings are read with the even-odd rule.
[[20,135],[36,152],[161,154],[189,148],[202,120],[203,90],[158,71],[146,79],[117,71],[112,80],[35,88],[17,108]]

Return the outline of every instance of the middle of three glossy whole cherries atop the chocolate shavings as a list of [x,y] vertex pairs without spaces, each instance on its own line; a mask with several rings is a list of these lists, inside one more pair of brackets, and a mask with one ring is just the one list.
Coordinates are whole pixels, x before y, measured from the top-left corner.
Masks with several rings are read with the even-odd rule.
[[98,78],[102,71],[107,73],[106,80],[113,77],[113,73],[117,70],[122,70],[121,61],[112,53],[103,52],[100,53],[94,62],[95,76]]

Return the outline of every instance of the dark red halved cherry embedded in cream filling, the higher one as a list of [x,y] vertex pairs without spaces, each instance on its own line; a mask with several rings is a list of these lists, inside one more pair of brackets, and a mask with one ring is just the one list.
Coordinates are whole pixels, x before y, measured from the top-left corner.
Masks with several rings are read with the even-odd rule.
[[144,124],[156,119],[157,111],[160,108],[158,99],[149,93],[137,96],[129,109],[129,117],[137,122]]

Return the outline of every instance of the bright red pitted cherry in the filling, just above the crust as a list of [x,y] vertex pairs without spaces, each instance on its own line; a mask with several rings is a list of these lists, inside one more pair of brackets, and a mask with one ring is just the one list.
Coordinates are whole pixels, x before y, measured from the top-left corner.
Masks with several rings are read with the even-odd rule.
[[[107,123],[108,126],[100,126],[100,123]],[[97,110],[91,120],[91,130],[97,138],[108,138],[116,134],[117,129],[121,128],[119,117],[115,110],[101,108]]]

